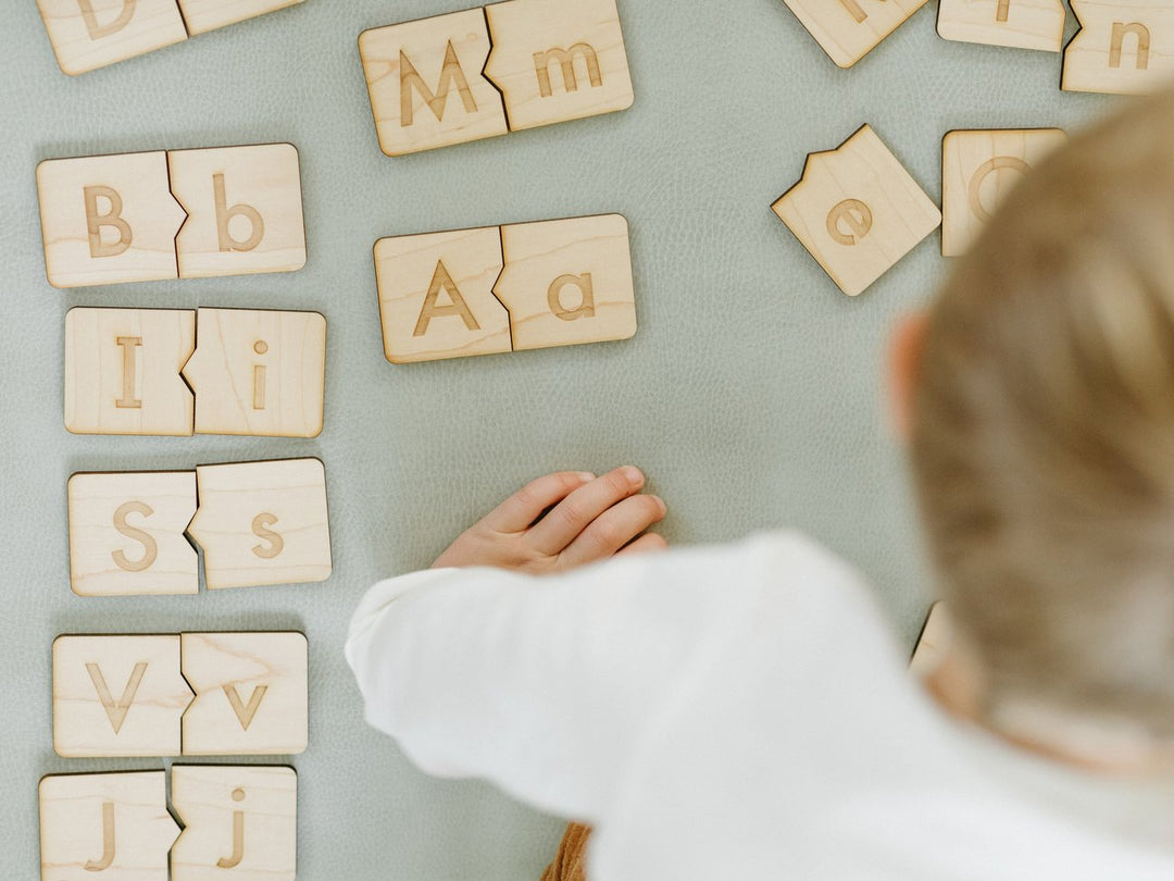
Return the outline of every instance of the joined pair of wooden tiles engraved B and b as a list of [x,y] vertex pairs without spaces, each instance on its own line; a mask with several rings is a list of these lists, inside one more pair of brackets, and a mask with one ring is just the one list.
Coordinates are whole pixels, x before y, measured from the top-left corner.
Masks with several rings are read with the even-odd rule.
[[54,288],[305,264],[292,144],[50,159],[36,191]]

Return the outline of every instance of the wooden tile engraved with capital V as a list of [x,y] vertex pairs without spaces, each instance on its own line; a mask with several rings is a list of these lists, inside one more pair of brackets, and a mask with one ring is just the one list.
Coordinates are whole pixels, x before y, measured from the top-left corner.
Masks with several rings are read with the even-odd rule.
[[58,755],[178,755],[191,697],[177,635],[59,637],[53,644]]

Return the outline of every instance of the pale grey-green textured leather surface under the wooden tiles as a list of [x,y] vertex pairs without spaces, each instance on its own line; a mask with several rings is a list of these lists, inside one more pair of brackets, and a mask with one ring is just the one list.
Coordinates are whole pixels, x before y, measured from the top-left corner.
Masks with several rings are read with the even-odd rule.
[[[676,543],[807,530],[869,573],[912,639],[926,576],[878,402],[888,329],[943,271],[938,236],[852,301],[769,206],[798,179],[805,153],[865,121],[938,201],[947,129],[1072,126],[1109,101],[1061,94],[1055,55],[940,40],[933,5],[843,72],[782,0],[621,0],[630,110],[382,155],[359,32],[468,5],[308,0],[70,80],[35,4],[5,4],[0,841],[13,877],[36,872],[42,774],[163,765],[54,756],[54,635],[218,628],[303,628],[310,638],[311,746],[294,762],[301,879],[538,877],[561,823],[487,786],[412,769],[362,722],[340,648],[373,580],[426,565],[502,495],[551,469],[642,465],[670,506],[664,532]],[[39,160],[282,140],[302,156],[304,270],[73,292],[46,283]],[[376,238],[602,211],[632,224],[634,339],[384,361]],[[325,431],[305,442],[67,435],[62,330],[77,304],[321,310]],[[326,464],[330,581],[106,601],[69,592],[70,472],[311,455]]]

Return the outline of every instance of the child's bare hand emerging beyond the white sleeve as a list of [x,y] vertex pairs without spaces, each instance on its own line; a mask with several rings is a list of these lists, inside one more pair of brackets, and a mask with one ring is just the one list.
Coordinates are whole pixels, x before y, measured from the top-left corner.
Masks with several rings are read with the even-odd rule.
[[664,517],[664,503],[641,493],[643,485],[645,476],[630,466],[603,477],[574,471],[540,477],[461,533],[432,567],[561,572],[614,553],[662,551],[663,538],[640,534]]

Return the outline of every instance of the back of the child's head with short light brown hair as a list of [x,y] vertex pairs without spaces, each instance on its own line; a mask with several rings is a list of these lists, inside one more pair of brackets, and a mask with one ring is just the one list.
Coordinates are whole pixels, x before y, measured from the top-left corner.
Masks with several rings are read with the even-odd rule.
[[1174,742],[1174,94],[1072,139],[933,304],[912,463],[992,712]]

